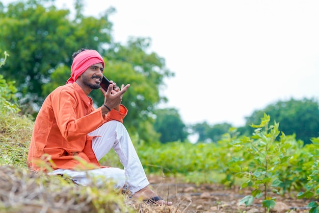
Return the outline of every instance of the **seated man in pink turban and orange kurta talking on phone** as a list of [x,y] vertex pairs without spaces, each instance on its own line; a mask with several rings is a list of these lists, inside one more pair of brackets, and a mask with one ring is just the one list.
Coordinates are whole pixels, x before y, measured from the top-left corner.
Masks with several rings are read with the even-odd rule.
[[[123,125],[127,109],[121,104],[129,84],[121,89],[111,81],[104,94],[104,104],[95,109],[88,97],[100,88],[104,61],[95,50],[81,49],[72,55],[71,77],[66,85],[52,91],[36,117],[28,154],[28,167],[43,170],[40,160],[47,160],[54,170],[50,175],[66,175],[79,185],[110,180],[116,188],[126,183],[132,198],[172,205],[151,190],[141,161]],[[101,167],[99,160],[111,148],[124,166]],[[88,165],[93,168],[88,169]],[[45,170],[46,171],[46,170]],[[103,177],[103,178],[101,178]]]

